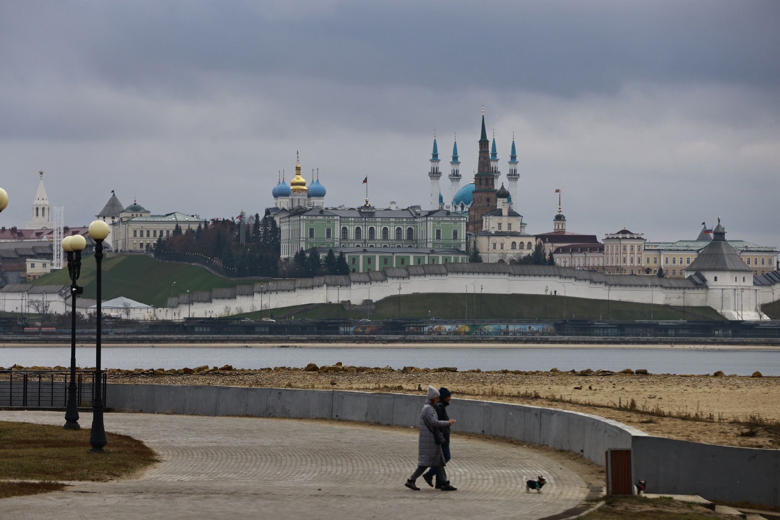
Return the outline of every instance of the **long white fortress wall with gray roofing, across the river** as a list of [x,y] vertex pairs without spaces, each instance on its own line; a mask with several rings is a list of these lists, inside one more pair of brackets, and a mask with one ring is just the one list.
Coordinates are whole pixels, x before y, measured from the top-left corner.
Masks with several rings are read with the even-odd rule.
[[[278,280],[194,293],[189,308],[187,295],[169,299],[168,307],[155,310],[159,319],[218,317],[256,310],[275,309],[310,303],[335,303],[365,299],[378,301],[414,293],[452,293],[466,290],[488,294],[534,294],[558,292],[578,298],[654,303],[671,306],[711,306],[729,320],[767,320],[760,312],[764,303],[780,299],[780,285],[753,285],[752,277],[717,287],[691,278],[649,278],[608,275],[567,267],[519,266],[505,264],[444,264],[392,267],[385,271],[351,273],[349,276],[323,276]],[[725,280],[722,275],[720,280]],[[733,276],[731,279],[734,279]],[[473,285],[472,285],[473,284]],[[772,288],[775,290],[773,291]],[[683,295],[684,292],[684,295]],[[198,301],[200,300],[200,301]]]

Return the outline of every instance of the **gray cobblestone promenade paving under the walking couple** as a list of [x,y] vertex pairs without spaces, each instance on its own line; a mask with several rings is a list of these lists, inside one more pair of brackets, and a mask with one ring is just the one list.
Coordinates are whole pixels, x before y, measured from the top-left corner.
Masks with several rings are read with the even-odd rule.
[[[62,412],[0,420],[63,423]],[[91,420],[81,414],[82,425]],[[423,479],[422,490],[408,490],[417,429],[128,413],[106,414],[105,427],[144,440],[162,462],[136,480],[5,499],[0,518],[544,518],[587,495],[580,476],[530,449],[473,439],[452,442],[447,471],[458,491]],[[544,492],[526,493],[537,475],[548,480]]]

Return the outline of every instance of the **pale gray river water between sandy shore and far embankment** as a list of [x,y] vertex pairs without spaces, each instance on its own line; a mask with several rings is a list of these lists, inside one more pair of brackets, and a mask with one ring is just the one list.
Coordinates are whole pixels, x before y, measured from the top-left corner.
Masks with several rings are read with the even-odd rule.
[[[94,348],[76,348],[79,366],[94,366]],[[458,370],[623,370],[651,373],[714,373],[723,370],[749,376],[780,376],[780,351],[725,348],[387,348],[387,347],[109,347],[102,351],[110,368],[222,366],[257,369],[267,366],[332,365],[403,366]],[[68,366],[67,347],[0,348],[0,366]]]

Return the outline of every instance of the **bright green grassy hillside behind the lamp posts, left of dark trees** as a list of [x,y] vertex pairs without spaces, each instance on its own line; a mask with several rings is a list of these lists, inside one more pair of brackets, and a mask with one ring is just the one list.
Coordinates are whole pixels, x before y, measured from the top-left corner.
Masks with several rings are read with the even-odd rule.
[[[145,255],[119,255],[103,260],[103,299],[125,296],[147,305],[165,306],[168,296],[181,292],[207,291],[216,287],[235,287],[253,284],[253,280],[229,280],[204,269],[204,267],[179,262],[163,262]],[[69,285],[68,270],[62,269],[38,278],[36,285]],[[81,261],[79,285],[84,288],[84,298],[95,298],[94,256]]]

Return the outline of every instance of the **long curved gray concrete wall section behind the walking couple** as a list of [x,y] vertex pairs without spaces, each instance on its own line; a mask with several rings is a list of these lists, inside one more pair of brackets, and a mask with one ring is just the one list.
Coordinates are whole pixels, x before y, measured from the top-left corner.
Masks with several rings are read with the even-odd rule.
[[[108,384],[115,409],[201,416],[310,417],[418,426],[424,398],[409,394],[167,384]],[[608,448],[629,448],[645,433],[586,413],[453,399],[453,430],[574,451],[603,465]]]

